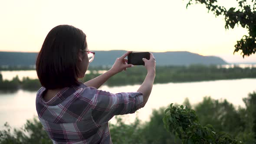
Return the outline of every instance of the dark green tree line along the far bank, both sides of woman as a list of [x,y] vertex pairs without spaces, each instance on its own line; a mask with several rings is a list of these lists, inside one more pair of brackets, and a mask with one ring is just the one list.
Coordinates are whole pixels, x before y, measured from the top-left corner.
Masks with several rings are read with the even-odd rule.
[[[90,79],[101,75],[99,70],[108,70],[107,67],[95,67],[90,69],[91,73],[86,74],[81,82],[86,82]],[[143,66],[135,66],[124,72],[120,72],[105,82],[108,86],[135,85],[141,84],[147,74]],[[197,82],[210,81],[220,79],[243,79],[256,78],[256,68],[218,68],[216,65],[190,65],[190,66],[157,66],[156,77],[154,83],[169,83],[169,82]],[[38,79],[30,79],[28,77],[20,80],[18,76],[12,80],[3,80],[0,74],[0,90],[16,91],[19,88],[24,90],[36,91],[41,87]]]

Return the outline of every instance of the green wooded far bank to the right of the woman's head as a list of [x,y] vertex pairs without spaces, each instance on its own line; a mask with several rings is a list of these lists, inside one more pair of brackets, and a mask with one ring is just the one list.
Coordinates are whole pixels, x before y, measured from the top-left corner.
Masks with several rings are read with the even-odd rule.
[[[108,69],[104,69],[108,70]],[[256,78],[256,68],[217,68],[216,65],[157,66],[154,83],[196,82],[217,79]],[[147,72],[142,66],[135,66],[112,76],[105,85],[135,85],[144,81]],[[97,77],[98,73],[86,74],[83,82]],[[129,78],[129,79],[127,79]]]

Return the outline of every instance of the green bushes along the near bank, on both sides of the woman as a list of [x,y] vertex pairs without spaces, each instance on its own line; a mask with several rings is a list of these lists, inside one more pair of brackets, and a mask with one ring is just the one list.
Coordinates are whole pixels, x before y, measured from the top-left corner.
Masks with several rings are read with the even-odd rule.
[[[153,110],[146,122],[141,122],[138,114],[131,124],[126,124],[124,117],[115,116],[117,122],[109,124],[112,142],[114,144],[210,144],[209,141],[212,141],[211,144],[255,144],[256,93],[253,92],[243,98],[243,102],[245,107],[236,108],[225,99],[204,97],[203,101],[191,105],[186,98],[183,105],[186,105],[187,110],[180,104],[172,104],[171,107]],[[178,112],[181,108],[184,111]],[[169,117],[173,122],[169,123],[170,132],[168,132],[166,121],[163,119],[170,114],[174,115]],[[190,120],[193,120],[190,126],[183,119],[185,118],[183,116],[188,117],[188,115]],[[193,125],[195,122],[196,125]],[[52,144],[38,118],[28,120],[22,129],[12,129],[8,123],[4,125],[5,129],[0,131],[1,144]],[[191,128],[183,129],[187,127]],[[208,130],[203,130],[204,128]]]

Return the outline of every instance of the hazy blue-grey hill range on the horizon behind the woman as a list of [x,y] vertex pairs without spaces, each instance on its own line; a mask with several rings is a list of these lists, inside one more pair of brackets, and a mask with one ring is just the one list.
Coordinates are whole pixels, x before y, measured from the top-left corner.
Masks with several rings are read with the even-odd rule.
[[[115,59],[122,56],[126,51],[94,51],[95,58],[90,65],[112,65]],[[223,59],[217,56],[201,56],[191,52],[152,52],[157,65],[215,65],[227,64]],[[35,65],[36,52],[0,52],[0,65]]]

